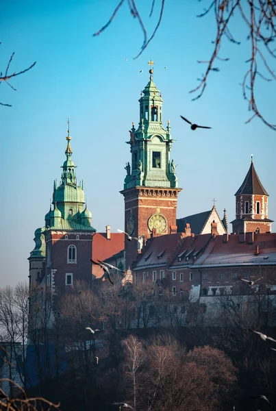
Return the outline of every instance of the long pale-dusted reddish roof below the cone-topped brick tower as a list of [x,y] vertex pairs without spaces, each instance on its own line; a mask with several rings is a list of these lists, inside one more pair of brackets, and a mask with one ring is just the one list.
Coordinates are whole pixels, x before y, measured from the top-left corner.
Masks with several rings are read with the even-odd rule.
[[[259,246],[258,256],[255,256],[256,245]],[[210,240],[193,268],[252,264],[276,265],[276,233],[254,234],[253,244],[248,244],[247,241],[239,242],[236,234],[229,235],[228,242],[223,242],[223,236],[216,236]]]

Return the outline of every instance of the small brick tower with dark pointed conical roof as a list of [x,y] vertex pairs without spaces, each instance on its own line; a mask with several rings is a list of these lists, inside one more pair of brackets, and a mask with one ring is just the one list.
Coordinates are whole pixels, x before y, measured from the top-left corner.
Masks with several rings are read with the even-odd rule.
[[273,221],[268,219],[268,193],[255,171],[253,156],[247,176],[235,196],[236,219],[231,221],[233,233],[271,232]]

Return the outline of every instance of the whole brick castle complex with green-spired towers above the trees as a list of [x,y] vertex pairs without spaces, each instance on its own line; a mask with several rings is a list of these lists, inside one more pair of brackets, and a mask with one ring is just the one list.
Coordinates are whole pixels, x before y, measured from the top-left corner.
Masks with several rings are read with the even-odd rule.
[[[125,232],[105,233],[92,227],[84,201],[84,184],[77,181],[68,123],[66,160],[60,184],[53,184],[53,202],[45,224],[36,229],[29,256],[30,288],[39,286],[60,295],[76,280],[92,282],[103,271],[91,260],[130,268],[142,282],[168,277],[172,295],[218,295],[237,278],[273,276],[276,271],[276,234],[268,219],[268,193],[255,171],[253,159],[236,192],[236,219],[228,234],[223,219],[212,210],[177,219],[181,188],[171,159],[173,138],[163,126],[163,100],[153,82],[153,69],[142,90],[138,128],[129,130],[131,160],[121,194],[125,200]],[[134,240],[129,240],[134,238]],[[119,265],[120,264],[120,265]],[[265,271],[265,273],[264,273]],[[228,287],[228,288],[227,288]]]

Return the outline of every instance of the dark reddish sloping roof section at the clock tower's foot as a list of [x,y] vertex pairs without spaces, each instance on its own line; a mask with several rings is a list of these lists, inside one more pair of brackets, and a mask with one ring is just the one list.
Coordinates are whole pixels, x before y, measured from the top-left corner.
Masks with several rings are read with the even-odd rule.
[[149,240],[149,245],[136,261],[134,270],[145,270],[167,265],[168,258],[181,244],[182,233],[166,234]]

